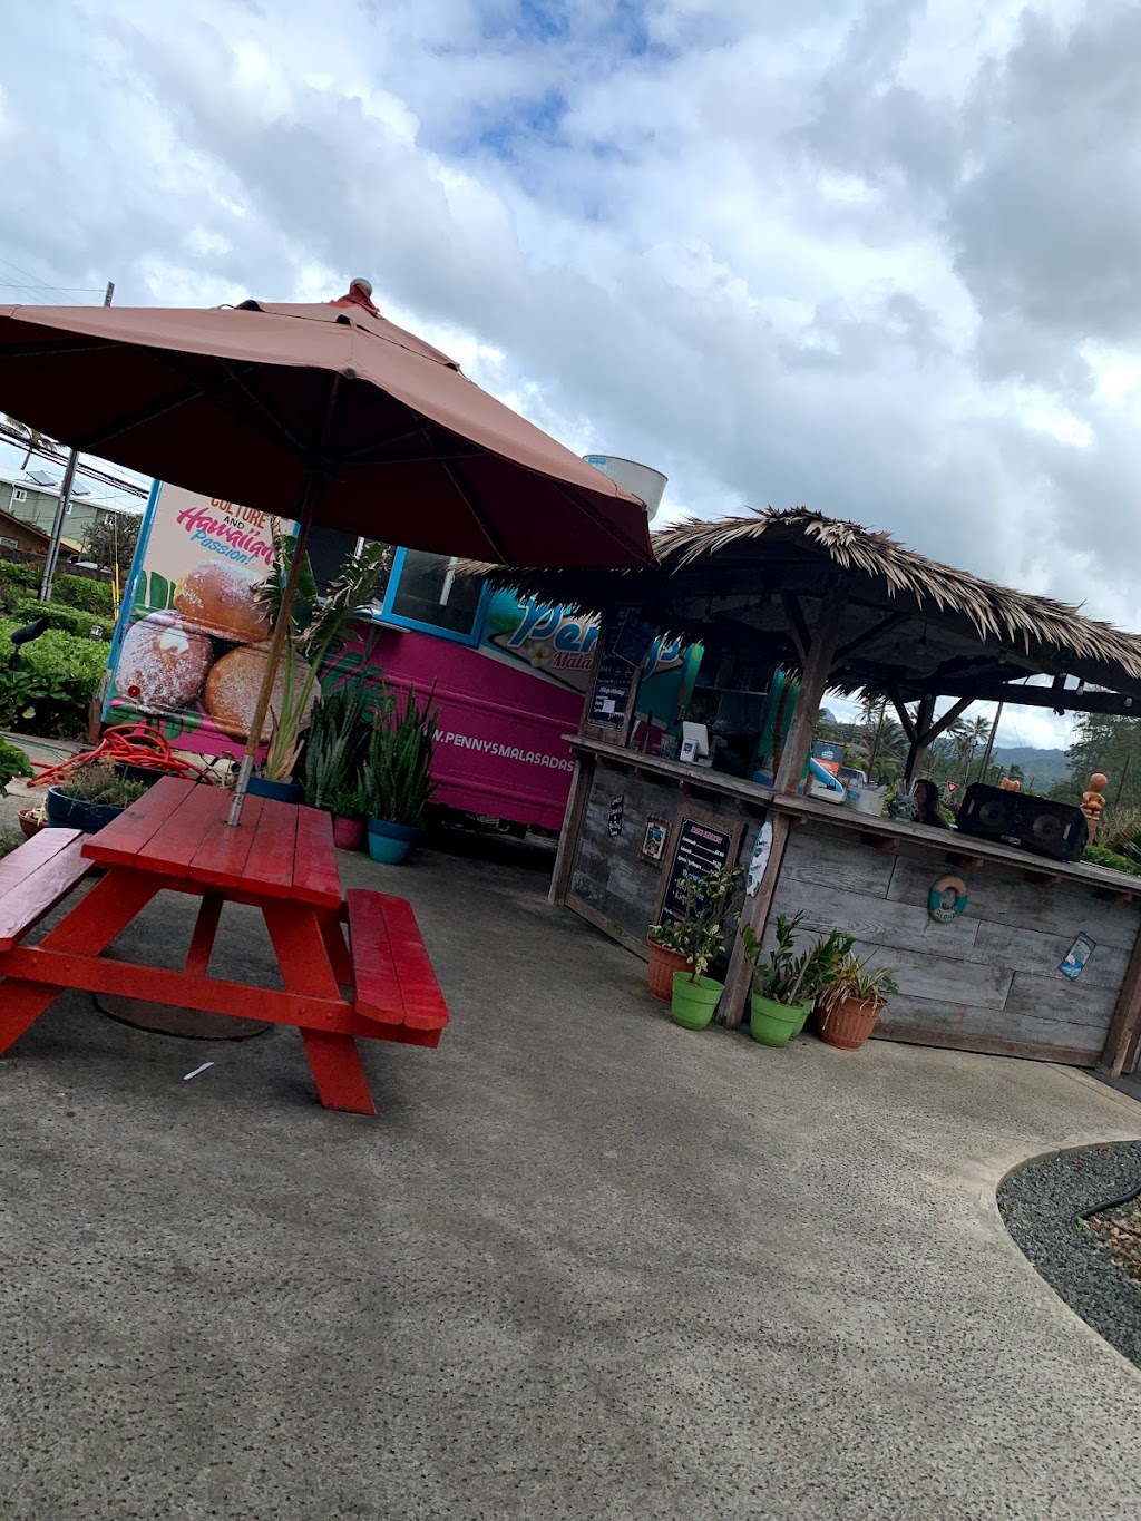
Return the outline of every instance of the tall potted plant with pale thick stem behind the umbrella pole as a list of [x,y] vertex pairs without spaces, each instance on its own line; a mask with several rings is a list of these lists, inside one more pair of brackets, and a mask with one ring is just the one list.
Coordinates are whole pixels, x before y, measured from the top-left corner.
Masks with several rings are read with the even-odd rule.
[[[295,538],[286,535],[274,540],[274,572],[259,589],[259,602],[271,622],[280,613],[281,587],[295,543]],[[345,560],[341,575],[321,598],[309,557],[304,557],[289,637],[281,651],[281,666],[269,704],[269,742],[260,774],[249,780],[251,792],[288,803],[301,800],[303,788],[294,780],[294,771],[304,732],[315,709],[323,706],[321,671],[353,619],[374,599],[386,570],[388,545],[371,543],[359,555]]]

